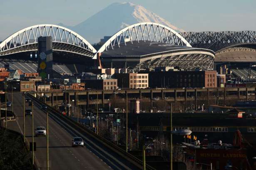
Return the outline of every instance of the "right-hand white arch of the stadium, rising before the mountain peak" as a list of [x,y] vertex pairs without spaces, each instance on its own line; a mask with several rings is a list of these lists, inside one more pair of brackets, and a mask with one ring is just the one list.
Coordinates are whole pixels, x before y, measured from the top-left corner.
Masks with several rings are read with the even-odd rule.
[[[142,30],[142,25],[144,25],[144,29],[143,30]],[[148,25],[150,26],[150,29],[149,29]],[[152,30],[152,26],[154,26],[154,25],[156,26],[156,29],[154,29],[154,27],[153,27],[153,30]],[[136,30],[136,27],[138,27],[137,30]],[[147,27],[147,30],[146,30],[146,27]],[[160,27],[162,28],[162,32],[160,31]],[[129,29],[132,29],[132,32],[130,32]],[[159,30],[159,34],[160,34],[159,41],[157,40],[157,36],[156,36],[157,30]],[[168,33],[166,32],[166,30],[168,30]],[[127,35],[127,31],[128,31],[128,35]],[[154,23],[154,22],[141,22],[141,23],[130,25],[130,26],[124,28],[124,29],[121,29],[119,32],[117,32],[111,38],[109,38],[101,46],[101,48],[97,51],[97,53],[101,53],[101,52],[103,52],[105,50],[107,51],[107,48],[109,48],[110,46],[112,47],[112,49],[113,49],[114,45],[118,45],[119,46],[121,39],[122,38],[125,39],[126,36],[129,36],[129,39],[130,39],[131,42],[132,41],[139,41],[139,38],[138,38],[139,31],[142,34],[142,39],[141,40],[144,40],[144,41],[145,41],[144,33],[146,31],[149,34],[149,36],[148,36],[148,40],[149,41],[152,41],[152,39],[150,37],[150,34],[151,34],[151,32],[153,32],[153,34],[154,34],[153,41],[155,41],[155,40],[158,41],[158,42],[164,42],[165,41],[167,43],[170,43],[170,40],[168,39],[168,37],[171,36],[171,37],[174,37],[174,39],[172,39],[172,42],[176,41],[178,44],[181,44],[183,46],[185,45],[185,46],[191,47],[189,42],[187,42],[186,39],[184,39],[180,34],[178,34],[173,29],[171,29],[171,28],[169,28],[167,26],[164,26],[162,24]],[[136,36],[135,40],[132,40],[132,34],[133,33]],[[165,40],[163,39],[163,36],[165,36],[165,38],[166,38]],[[178,40],[178,38],[179,38],[179,40]],[[112,41],[114,41],[113,44],[112,44]],[[124,41],[124,44],[126,45],[125,41]],[[97,58],[97,53],[94,55],[93,59]]]

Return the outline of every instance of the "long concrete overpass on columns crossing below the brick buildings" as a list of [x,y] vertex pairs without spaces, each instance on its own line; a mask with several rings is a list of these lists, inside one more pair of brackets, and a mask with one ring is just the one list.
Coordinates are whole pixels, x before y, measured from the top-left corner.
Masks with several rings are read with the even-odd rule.
[[[98,101],[97,101],[98,93]],[[219,100],[220,98],[226,100],[256,100],[255,87],[225,87],[225,88],[185,88],[185,89],[122,89],[122,90],[62,90],[55,92],[38,92],[37,96],[46,95],[44,101],[51,106],[56,106],[65,103],[73,104],[74,106],[86,106],[89,108],[92,105],[109,104],[110,99],[116,99],[117,96],[128,98],[132,100],[138,98],[140,100],[147,100],[153,107],[154,98],[162,98],[168,102],[184,102],[185,107],[189,102],[193,102],[195,107],[199,102],[209,105],[212,100]],[[219,99],[217,99],[219,98]],[[72,102],[74,101],[74,102]],[[116,101],[117,103],[125,102],[122,100]]]

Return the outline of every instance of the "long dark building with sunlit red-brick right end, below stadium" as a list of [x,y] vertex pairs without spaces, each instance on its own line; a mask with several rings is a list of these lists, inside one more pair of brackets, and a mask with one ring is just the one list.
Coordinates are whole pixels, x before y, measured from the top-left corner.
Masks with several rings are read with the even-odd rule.
[[206,71],[163,71],[149,72],[149,87],[217,87],[217,72]]

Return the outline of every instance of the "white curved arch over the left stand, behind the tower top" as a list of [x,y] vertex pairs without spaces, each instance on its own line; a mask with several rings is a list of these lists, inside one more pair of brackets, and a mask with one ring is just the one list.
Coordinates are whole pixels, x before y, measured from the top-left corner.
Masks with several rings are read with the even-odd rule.
[[[50,28],[47,30],[47,27],[50,27]],[[62,30],[62,32],[61,32],[61,30]],[[28,32],[29,32],[29,34],[28,34]],[[46,33],[47,36],[49,36],[50,34],[53,34],[53,37],[52,37],[53,42],[66,41],[68,44],[78,45],[81,48],[87,49],[87,50],[89,50],[93,53],[96,52],[94,47],[86,39],[84,39],[82,36],[80,36],[79,34],[77,34],[76,32],[74,32],[74,31],[72,31],[68,28],[58,26],[58,25],[54,25],[54,24],[34,25],[34,26],[31,26],[31,27],[21,29],[18,32],[15,32],[11,36],[9,36],[7,39],[2,41],[2,43],[0,44],[0,52],[15,48],[16,45],[17,45],[17,40],[21,42],[21,44],[20,44],[21,46],[36,43],[37,42],[37,37],[38,37],[37,36],[38,32],[39,32],[40,36],[43,36],[44,33]],[[60,41],[58,41],[56,39],[56,36],[60,36]],[[30,43],[30,40],[31,40],[30,38],[33,41],[32,43]],[[27,40],[27,44],[23,43],[24,40],[25,41]],[[72,42],[69,43],[69,41],[72,41]],[[14,47],[10,46],[11,43],[14,45]],[[9,44],[9,46],[7,44]]]

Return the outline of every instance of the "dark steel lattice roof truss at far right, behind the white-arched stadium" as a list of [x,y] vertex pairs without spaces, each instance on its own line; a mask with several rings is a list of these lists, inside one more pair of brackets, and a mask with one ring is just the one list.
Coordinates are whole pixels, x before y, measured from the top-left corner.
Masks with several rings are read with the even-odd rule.
[[183,36],[191,46],[211,49],[215,52],[234,44],[256,42],[255,31],[181,32],[179,34]]

